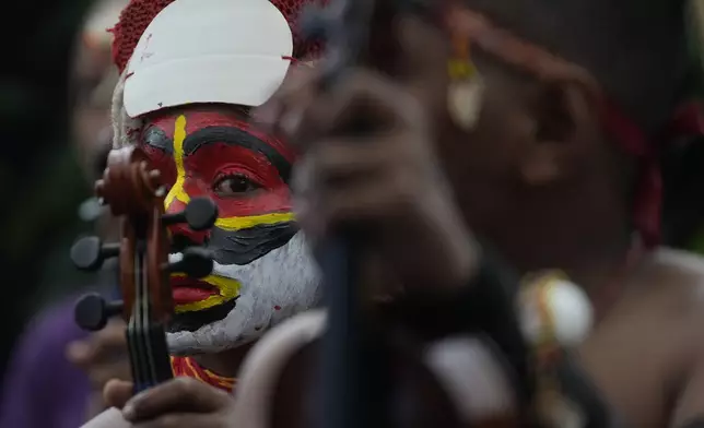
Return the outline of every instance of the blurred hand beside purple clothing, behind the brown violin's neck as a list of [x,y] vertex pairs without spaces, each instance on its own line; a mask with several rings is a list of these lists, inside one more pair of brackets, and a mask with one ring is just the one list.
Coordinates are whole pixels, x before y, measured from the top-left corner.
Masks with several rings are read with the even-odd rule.
[[85,370],[95,392],[102,393],[110,379],[131,380],[125,322],[110,320],[105,329],[67,346],[69,361]]

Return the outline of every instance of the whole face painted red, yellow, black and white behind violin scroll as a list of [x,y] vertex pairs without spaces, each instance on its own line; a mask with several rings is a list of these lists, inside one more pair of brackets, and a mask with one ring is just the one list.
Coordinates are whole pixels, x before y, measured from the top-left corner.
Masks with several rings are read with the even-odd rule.
[[317,275],[292,213],[285,144],[254,130],[238,110],[218,107],[157,114],[140,141],[169,185],[167,212],[196,197],[211,198],[220,212],[208,233],[171,230],[175,251],[204,245],[215,260],[201,281],[172,277],[174,353],[240,345],[315,304]]

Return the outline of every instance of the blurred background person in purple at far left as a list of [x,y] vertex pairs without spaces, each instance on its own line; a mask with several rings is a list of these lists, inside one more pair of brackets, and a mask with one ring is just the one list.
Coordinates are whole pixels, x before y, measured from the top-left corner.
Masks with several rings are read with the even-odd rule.
[[[110,73],[112,36],[107,28],[117,21],[124,3],[103,0],[94,7],[80,35],[71,72],[74,150],[91,181],[102,175],[112,143],[109,107],[117,76]],[[79,215],[83,221],[95,222],[105,239],[114,235],[115,226],[94,201],[86,201]],[[68,254],[66,259],[69,263]],[[96,275],[97,289],[105,293],[115,289],[115,275],[114,268]],[[120,371],[127,368],[121,347],[117,347],[115,355],[108,355],[109,344],[120,340],[115,328],[106,329],[97,341],[82,342],[89,336],[75,325],[74,302],[72,296],[39,312],[17,342],[4,378],[0,427],[74,428],[90,412],[91,391],[99,392],[109,378],[126,377]],[[92,367],[86,377],[75,362],[84,362],[89,354],[94,359],[101,354],[104,361]]]

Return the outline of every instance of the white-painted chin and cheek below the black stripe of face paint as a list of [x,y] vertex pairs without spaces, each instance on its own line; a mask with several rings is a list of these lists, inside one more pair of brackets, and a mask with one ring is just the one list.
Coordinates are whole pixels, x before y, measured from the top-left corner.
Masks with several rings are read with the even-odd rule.
[[242,346],[313,308],[321,296],[320,275],[301,233],[249,264],[215,263],[213,274],[239,281],[237,305],[224,319],[195,332],[168,333],[172,354],[212,354]]

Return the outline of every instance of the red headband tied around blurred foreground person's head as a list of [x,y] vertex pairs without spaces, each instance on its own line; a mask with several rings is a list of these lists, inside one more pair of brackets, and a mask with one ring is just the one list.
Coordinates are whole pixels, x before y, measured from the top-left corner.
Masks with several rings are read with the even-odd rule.
[[[662,178],[657,158],[657,146],[641,128],[603,94],[598,82],[582,67],[556,57],[544,49],[520,40],[497,28],[479,13],[457,4],[446,14],[449,28],[467,37],[472,46],[490,54],[509,66],[527,71],[544,82],[570,82],[584,87],[601,106],[605,131],[619,146],[638,162],[640,175],[635,189],[633,224],[648,247],[660,241],[662,207]],[[704,116],[699,105],[687,105],[678,110],[668,132],[704,134]],[[670,135],[662,135],[665,141]]]

